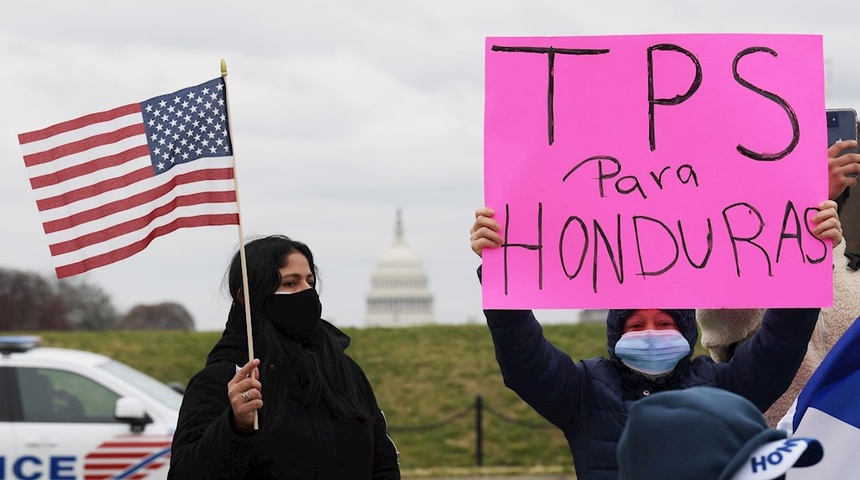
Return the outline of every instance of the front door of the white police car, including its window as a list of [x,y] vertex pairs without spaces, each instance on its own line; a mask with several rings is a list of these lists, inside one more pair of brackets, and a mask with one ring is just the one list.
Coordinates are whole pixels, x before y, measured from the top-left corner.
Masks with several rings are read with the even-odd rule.
[[118,393],[57,368],[19,367],[11,373],[20,403],[12,422],[15,459],[7,465],[12,478],[107,477],[134,464],[128,457],[137,455],[140,436],[114,418]]

